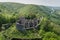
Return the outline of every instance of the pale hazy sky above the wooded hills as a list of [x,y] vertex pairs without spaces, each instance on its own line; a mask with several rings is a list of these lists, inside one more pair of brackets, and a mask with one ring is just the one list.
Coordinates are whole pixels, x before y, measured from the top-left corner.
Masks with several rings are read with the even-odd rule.
[[25,4],[38,4],[38,5],[60,7],[60,0],[0,0],[0,2],[17,2]]

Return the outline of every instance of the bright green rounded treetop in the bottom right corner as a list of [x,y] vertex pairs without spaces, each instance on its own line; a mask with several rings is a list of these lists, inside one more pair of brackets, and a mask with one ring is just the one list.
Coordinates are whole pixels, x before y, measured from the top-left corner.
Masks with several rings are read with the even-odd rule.
[[54,32],[47,32],[44,34],[43,40],[59,40]]

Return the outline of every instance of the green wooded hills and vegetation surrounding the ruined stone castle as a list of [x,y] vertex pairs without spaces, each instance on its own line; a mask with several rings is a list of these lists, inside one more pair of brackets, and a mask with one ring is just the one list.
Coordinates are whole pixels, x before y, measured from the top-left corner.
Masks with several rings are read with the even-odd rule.
[[[16,21],[19,17],[32,14],[37,18],[43,17],[39,29],[26,30],[26,33],[18,31]],[[0,40],[13,38],[60,40],[60,10],[43,5],[0,3]]]

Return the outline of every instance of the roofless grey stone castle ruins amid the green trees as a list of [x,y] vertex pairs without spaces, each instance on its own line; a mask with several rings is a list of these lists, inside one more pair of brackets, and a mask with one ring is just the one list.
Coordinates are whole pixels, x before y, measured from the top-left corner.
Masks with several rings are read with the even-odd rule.
[[25,30],[25,29],[31,29],[37,27],[36,25],[39,24],[39,19],[34,18],[34,19],[25,19],[24,17],[21,17],[17,23],[16,23],[16,28],[18,30]]

